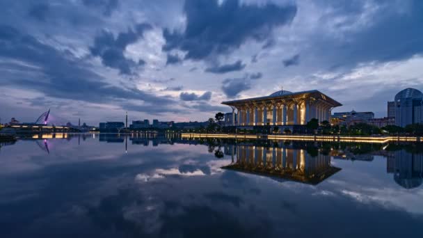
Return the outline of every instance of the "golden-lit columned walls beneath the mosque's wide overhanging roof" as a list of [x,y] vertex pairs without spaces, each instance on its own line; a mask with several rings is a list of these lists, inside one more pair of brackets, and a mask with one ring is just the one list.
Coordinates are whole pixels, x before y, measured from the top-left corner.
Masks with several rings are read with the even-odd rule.
[[[306,125],[312,118],[330,121],[333,108],[327,102],[292,100],[280,102],[250,102],[232,107],[232,125]],[[237,123],[235,123],[237,111]]]

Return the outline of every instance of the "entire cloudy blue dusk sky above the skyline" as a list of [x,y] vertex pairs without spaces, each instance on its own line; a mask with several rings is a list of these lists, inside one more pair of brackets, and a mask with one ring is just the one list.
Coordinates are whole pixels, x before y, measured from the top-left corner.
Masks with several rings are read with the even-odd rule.
[[0,118],[205,121],[320,90],[374,111],[423,90],[423,1],[0,1]]

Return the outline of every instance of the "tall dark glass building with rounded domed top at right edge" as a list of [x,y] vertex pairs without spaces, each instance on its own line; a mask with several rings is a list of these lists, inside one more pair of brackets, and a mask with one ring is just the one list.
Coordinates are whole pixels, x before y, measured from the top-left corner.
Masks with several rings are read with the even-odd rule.
[[395,125],[423,123],[423,93],[415,88],[401,90],[394,98]]

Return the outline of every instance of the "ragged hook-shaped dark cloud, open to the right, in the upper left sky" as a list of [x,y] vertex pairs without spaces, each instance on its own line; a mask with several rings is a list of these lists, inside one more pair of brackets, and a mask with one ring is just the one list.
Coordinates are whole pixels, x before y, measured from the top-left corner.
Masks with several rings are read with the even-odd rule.
[[102,31],[95,37],[90,52],[93,56],[99,56],[103,65],[118,69],[120,74],[132,74],[132,69],[144,65],[145,61],[135,62],[126,58],[123,53],[127,45],[143,38],[144,32],[150,29],[152,29],[150,24],[137,24],[134,29],[119,33],[117,38],[109,31]]

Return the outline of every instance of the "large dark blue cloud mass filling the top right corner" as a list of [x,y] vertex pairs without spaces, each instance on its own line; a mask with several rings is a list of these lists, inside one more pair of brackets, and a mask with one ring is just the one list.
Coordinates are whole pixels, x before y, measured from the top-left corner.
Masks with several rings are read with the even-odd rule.
[[[390,1],[375,1],[372,8],[378,12],[367,23],[354,31],[346,31],[343,38],[334,39],[332,35],[317,34],[313,38],[313,54],[345,67],[369,61],[387,62],[410,58],[423,53],[423,1],[404,1],[406,13],[399,13],[399,6]],[[407,7],[409,6],[409,7]],[[324,8],[332,13],[319,19],[327,24],[334,18],[346,19],[335,25],[333,31],[351,28],[356,19],[365,14],[369,7],[361,1],[327,1]]]

